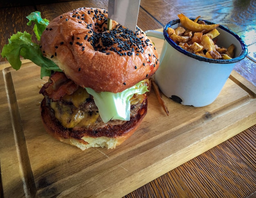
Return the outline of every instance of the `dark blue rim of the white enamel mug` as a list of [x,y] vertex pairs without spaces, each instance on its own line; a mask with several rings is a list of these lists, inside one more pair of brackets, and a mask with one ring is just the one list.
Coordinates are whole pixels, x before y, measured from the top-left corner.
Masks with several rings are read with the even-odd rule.
[[[190,18],[191,20],[195,20],[195,18]],[[200,19],[202,20],[202,19]],[[206,24],[215,24],[213,22],[210,22],[208,20],[202,20],[204,21]],[[243,60],[248,53],[248,49],[247,49],[247,45],[245,44],[245,42],[242,40],[242,38],[240,38],[240,36],[238,36],[238,34],[234,33],[233,31],[231,31],[230,29],[227,29],[226,27],[224,27],[223,25],[220,25],[218,28],[223,29],[224,31],[227,31],[228,33],[230,33],[231,35],[233,35],[241,44],[242,47],[242,51],[240,53],[239,56],[232,58],[232,59],[228,59],[228,60],[222,60],[222,59],[211,59],[211,58],[205,58],[203,56],[198,56],[194,53],[191,53],[189,51],[186,51],[185,49],[182,49],[180,46],[178,46],[169,36],[167,33],[167,28],[168,27],[172,27],[173,25],[180,23],[180,19],[175,19],[172,20],[170,22],[168,22],[165,27],[164,27],[164,38],[167,40],[167,42],[169,44],[171,44],[172,47],[174,47],[176,50],[180,51],[181,53],[185,54],[186,56],[190,56],[192,58],[195,58],[197,60],[200,61],[204,61],[204,62],[210,62],[210,63],[220,63],[220,64],[227,64],[227,63],[234,63],[234,62],[238,62],[240,60]]]

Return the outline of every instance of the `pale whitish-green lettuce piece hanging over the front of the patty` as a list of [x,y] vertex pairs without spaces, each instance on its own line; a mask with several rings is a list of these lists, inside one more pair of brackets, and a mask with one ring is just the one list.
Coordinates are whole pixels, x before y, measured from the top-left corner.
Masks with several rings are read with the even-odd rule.
[[99,114],[103,122],[109,120],[130,120],[130,98],[133,94],[144,94],[148,91],[148,87],[144,83],[138,82],[133,87],[130,87],[119,93],[111,92],[96,92],[91,88],[86,87],[86,91],[94,98],[94,102],[99,109]]

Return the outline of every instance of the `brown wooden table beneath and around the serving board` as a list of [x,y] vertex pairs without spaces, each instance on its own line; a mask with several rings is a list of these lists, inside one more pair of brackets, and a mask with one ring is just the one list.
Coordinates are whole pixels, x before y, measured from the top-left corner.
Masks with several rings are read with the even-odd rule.
[[[54,1],[54,3],[51,1],[50,3],[46,0],[37,1],[34,4],[15,1],[1,2],[0,51],[2,51],[3,45],[7,44],[12,33],[17,31],[32,33],[32,27],[26,26],[27,19],[25,16],[29,13],[38,10],[42,13],[43,18],[52,20],[61,13],[79,7],[107,9],[108,1],[81,0]],[[141,0],[137,24],[143,30],[160,29],[170,20],[176,19],[177,14],[184,13],[189,17],[200,15],[205,20],[227,26],[245,40],[249,51],[247,57],[236,65],[233,73],[234,76],[238,77],[233,80],[242,79],[243,83],[238,82],[241,87],[254,87],[256,86],[255,12],[255,0],[214,0],[211,2],[202,0]],[[1,62],[4,61],[6,60],[1,57]],[[255,98],[255,95],[252,94],[251,97]],[[255,116],[248,119],[256,120]],[[236,126],[236,129],[238,128],[243,129],[243,127]],[[187,162],[184,161],[184,164],[174,167],[171,171],[163,173],[162,176],[154,178],[138,189],[128,192],[130,194],[123,196],[127,198],[256,197],[256,125],[247,128],[236,136],[229,137],[222,143],[219,142],[220,144],[213,148],[209,147],[211,149],[208,151],[189,159]],[[2,185],[1,194],[3,194]]]

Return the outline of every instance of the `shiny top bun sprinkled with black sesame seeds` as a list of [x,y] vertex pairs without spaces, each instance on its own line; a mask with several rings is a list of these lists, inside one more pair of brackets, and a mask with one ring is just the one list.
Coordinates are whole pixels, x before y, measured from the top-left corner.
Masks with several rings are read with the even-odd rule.
[[104,9],[83,7],[64,13],[49,22],[41,51],[81,87],[117,93],[152,76],[159,61],[141,29],[134,33],[112,21],[108,31],[107,21]]

